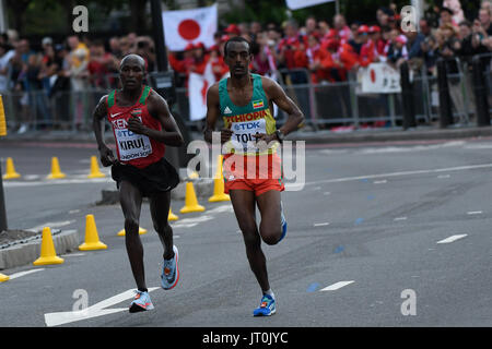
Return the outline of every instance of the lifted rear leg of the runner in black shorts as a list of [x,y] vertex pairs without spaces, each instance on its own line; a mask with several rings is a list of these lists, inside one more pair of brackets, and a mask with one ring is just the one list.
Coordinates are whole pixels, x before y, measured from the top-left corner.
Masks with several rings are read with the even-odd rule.
[[173,229],[171,228],[167,217],[171,204],[171,191],[159,192],[150,197],[150,212],[154,229],[161,239],[164,248],[164,258],[171,260],[173,252]]

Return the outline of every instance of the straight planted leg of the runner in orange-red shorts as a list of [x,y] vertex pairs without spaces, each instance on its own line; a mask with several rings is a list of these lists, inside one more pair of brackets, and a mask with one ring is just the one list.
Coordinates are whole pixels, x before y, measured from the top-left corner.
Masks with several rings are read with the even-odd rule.
[[255,192],[246,190],[231,190],[231,202],[234,207],[237,224],[243,231],[246,255],[249,266],[263,292],[270,289],[267,273],[267,260],[261,251],[261,238],[255,218]]

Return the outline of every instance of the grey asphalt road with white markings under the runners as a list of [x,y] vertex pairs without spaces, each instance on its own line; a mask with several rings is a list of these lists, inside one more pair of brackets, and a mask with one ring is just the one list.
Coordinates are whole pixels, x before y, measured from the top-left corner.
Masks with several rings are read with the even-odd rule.
[[[172,203],[180,279],[171,291],[159,288],[162,245],[144,204],[155,310],[129,314],[134,284],[116,236],[122,214],[95,205],[114,183],[83,179],[95,149],[2,147],[3,170],[12,156],[24,177],[4,181],[10,228],[49,222],[77,229],[83,241],[84,217],[94,214],[108,250],[2,270],[13,277],[0,284],[0,326],[490,327],[491,151],[489,139],[308,147],[303,190],[282,194],[286,238],[263,244],[277,314],[256,318],[260,291],[229,203],[201,202],[207,210],[188,215],[178,213],[184,202]],[[71,182],[44,179],[51,156]],[[81,300],[92,308],[72,313]]]

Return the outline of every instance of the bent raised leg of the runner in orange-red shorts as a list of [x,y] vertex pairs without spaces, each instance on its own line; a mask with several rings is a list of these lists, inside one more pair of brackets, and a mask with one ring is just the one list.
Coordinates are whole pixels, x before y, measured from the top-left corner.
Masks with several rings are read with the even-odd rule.
[[261,215],[260,236],[267,244],[277,244],[282,236],[280,192],[270,190],[256,197]]

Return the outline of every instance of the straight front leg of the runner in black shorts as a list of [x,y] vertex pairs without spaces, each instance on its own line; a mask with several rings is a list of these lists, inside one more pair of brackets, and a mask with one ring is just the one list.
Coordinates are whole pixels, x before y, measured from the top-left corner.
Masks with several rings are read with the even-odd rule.
[[147,290],[145,274],[143,267],[143,246],[139,236],[140,209],[142,194],[140,190],[128,181],[121,181],[119,185],[119,201],[125,216],[125,244],[131,272],[137,282],[137,288]]

